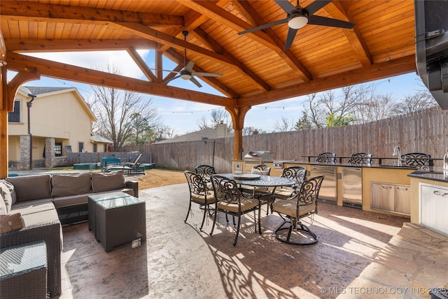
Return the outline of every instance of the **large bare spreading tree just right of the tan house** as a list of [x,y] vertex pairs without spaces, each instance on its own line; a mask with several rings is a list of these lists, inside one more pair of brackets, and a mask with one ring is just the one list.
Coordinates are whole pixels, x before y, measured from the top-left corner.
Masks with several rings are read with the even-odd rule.
[[[116,66],[107,66],[108,73],[119,74]],[[98,131],[113,141],[113,150],[125,144],[133,144],[137,136],[144,135],[139,130],[145,124],[146,131],[160,125],[157,108],[152,106],[152,98],[144,99],[140,94],[102,86],[92,86],[94,101],[92,111],[98,119]]]

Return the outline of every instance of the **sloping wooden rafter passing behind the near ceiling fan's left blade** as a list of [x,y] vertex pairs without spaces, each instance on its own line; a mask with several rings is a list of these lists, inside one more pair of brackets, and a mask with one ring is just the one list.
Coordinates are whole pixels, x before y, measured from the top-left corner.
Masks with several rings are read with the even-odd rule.
[[[248,1],[232,1],[234,5],[237,5],[240,13],[246,16],[251,16],[253,27],[257,27],[258,25],[265,24],[265,20],[262,20],[262,17],[253,9]],[[294,56],[290,50],[282,50],[284,48],[285,41],[281,41],[280,38],[276,35],[272,28],[265,29],[266,34],[274,41],[274,44],[277,47],[277,53],[283,59],[290,68],[299,75],[300,79],[304,80],[304,82],[309,82],[313,80],[313,75],[308,71],[308,69],[300,62],[297,57]]]

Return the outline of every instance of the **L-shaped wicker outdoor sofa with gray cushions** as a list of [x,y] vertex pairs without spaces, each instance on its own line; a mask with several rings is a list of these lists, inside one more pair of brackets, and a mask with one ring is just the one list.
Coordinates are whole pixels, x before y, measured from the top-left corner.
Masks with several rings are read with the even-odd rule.
[[[48,258],[47,291],[50,296],[59,295],[62,224],[87,220],[88,196],[113,191],[124,191],[138,197],[138,182],[125,182],[123,170],[111,173],[28,175],[0,180],[0,248],[45,241]],[[12,231],[6,228],[8,222],[3,221],[7,218],[12,220]]]

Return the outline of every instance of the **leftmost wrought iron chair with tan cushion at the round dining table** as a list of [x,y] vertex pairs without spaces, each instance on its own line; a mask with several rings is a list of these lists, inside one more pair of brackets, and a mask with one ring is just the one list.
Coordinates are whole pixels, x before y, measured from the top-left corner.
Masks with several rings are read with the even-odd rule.
[[185,218],[185,222],[187,222],[188,215],[191,211],[191,204],[197,203],[203,207],[204,216],[202,217],[202,224],[200,227],[200,231],[202,231],[202,226],[204,226],[205,217],[207,216],[207,212],[210,213],[210,205],[215,203],[214,191],[207,189],[207,184],[204,181],[204,178],[201,175],[197,175],[193,173],[193,171],[184,171],[183,172],[187,178],[188,188],[190,189],[190,203],[188,205],[187,217]]

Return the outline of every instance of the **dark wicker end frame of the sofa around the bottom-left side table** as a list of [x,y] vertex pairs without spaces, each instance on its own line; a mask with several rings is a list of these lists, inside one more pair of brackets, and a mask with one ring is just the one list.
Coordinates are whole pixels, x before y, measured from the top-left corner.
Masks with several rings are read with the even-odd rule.
[[[47,291],[50,297],[59,296],[61,287],[62,232],[59,222],[27,226],[0,235],[0,248],[12,247],[36,241],[47,245]],[[18,286],[20,288],[20,286]]]

